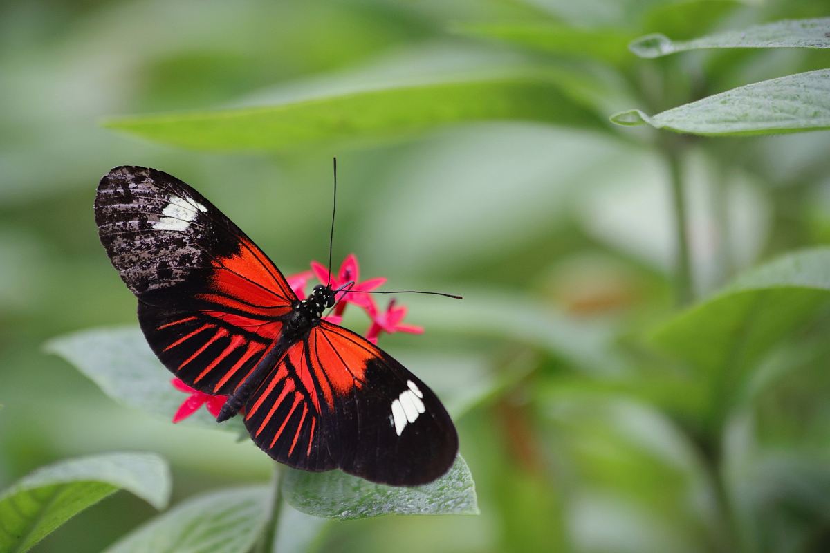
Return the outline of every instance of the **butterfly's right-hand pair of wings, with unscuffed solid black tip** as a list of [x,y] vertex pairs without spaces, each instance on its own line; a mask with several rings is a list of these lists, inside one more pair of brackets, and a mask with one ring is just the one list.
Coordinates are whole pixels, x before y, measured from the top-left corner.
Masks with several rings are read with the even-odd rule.
[[339,467],[414,486],[446,473],[458,451],[432,390],[374,344],[325,321],[288,349],[246,409],[254,442],[305,470]]

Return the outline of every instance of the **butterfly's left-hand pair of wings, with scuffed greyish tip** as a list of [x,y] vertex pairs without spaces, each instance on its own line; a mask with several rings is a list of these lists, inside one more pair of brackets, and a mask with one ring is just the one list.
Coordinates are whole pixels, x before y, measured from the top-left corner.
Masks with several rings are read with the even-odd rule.
[[155,169],[107,173],[95,221],[164,365],[198,390],[232,393],[296,299],[280,271],[204,196]]

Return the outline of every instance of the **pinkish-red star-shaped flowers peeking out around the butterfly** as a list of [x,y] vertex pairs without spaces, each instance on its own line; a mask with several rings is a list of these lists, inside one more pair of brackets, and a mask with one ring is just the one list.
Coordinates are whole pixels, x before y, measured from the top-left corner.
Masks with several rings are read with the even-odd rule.
[[[374,298],[371,292],[379,288],[386,282],[383,277],[374,279],[366,279],[360,281],[360,268],[357,257],[354,254],[349,254],[337,274],[330,274],[325,265],[316,261],[311,262],[311,269],[297,274],[291,274],[286,277],[288,285],[297,294],[297,298],[304,299],[306,297],[305,287],[309,284],[311,279],[316,278],[320,284],[329,284],[332,289],[338,289],[344,284],[354,282],[354,285],[349,288],[348,292],[338,294],[338,302],[334,305],[333,312],[325,315],[324,319],[330,323],[339,323],[343,319],[343,312],[349,303],[364,310],[369,315],[371,323],[366,331],[366,339],[374,344],[378,343],[378,337],[381,333],[393,334],[394,332],[409,332],[412,334],[422,334],[423,327],[417,327],[413,324],[403,323],[403,318],[406,317],[407,308],[403,305],[396,306],[393,299],[388,303],[385,311],[378,311],[377,305],[374,303]],[[202,405],[207,406],[207,410],[213,416],[219,415],[219,410],[227,401],[227,395],[210,395],[204,392],[193,390],[178,378],[173,379],[173,386],[176,390],[183,391],[189,394],[189,397],[183,401],[173,416],[173,422],[178,423],[179,420],[186,419],[193,415]]]

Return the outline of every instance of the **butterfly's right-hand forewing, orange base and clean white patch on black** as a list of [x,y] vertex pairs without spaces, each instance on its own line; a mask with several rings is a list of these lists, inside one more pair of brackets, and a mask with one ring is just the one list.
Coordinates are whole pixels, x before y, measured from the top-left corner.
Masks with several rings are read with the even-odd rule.
[[[452,466],[458,436],[427,385],[364,337],[326,323],[311,331],[329,449],[347,473],[413,486]],[[331,398],[329,401],[328,398]]]

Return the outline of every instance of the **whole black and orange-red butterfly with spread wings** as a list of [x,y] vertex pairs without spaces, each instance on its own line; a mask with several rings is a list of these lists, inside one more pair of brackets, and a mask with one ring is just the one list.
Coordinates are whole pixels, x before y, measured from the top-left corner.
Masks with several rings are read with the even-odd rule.
[[260,449],[308,471],[414,486],[452,466],[456,429],[432,390],[323,318],[339,290],[320,284],[297,298],[192,187],[156,169],[115,167],[98,185],[95,222],[159,360],[196,390],[230,395],[217,421],[242,416]]

